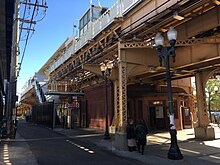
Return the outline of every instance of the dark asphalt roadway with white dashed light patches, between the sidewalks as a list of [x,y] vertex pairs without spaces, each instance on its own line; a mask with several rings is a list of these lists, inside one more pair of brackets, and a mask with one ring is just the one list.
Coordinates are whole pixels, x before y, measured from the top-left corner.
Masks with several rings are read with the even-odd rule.
[[25,139],[39,165],[134,165],[135,160],[116,156],[79,139],[51,129],[20,122],[18,133]]

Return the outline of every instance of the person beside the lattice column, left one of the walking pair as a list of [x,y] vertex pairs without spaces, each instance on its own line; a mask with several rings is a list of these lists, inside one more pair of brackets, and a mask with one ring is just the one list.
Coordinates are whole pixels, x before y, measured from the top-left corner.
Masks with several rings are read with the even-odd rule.
[[130,152],[136,150],[136,140],[135,140],[135,126],[132,119],[128,120],[128,125],[126,127],[128,150]]

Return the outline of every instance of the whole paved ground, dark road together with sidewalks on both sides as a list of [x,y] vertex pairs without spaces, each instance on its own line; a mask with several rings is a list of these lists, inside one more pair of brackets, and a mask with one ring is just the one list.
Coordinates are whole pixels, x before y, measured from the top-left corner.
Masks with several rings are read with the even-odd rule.
[[220,160],[220,129],[215,140],[201,141],[194,129],[178,131],[183,160],[167,159],[169,132],[148,135],[144,155],[120,151],[114,147],[114,135],[104,140],[103,132],[91,128],[51,130],[19,121],[15,139],[0,139],[0,165],[59,164],[151,164],[151,165],[217,165]]

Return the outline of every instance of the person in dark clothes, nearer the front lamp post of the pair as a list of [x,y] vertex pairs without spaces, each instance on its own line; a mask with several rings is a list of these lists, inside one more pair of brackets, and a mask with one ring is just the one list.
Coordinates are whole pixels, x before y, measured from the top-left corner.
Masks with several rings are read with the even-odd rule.
[[147,142],[146,136],[148,134],[148,129],[143,119],[138,121],[137,126],[135,127],[135,134],[138,152],[144,155],[144,148]]

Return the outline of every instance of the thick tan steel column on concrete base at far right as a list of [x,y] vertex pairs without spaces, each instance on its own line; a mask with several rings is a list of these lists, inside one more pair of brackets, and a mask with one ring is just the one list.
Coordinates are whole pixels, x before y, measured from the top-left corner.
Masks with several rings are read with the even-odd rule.
[[198,105],[198,127],[195,128],[195,137],[203,140],[215,139],[214,128],[209,126],[207,103],[205,94],[206,76],[205,72],[196,73],[196,97]]

